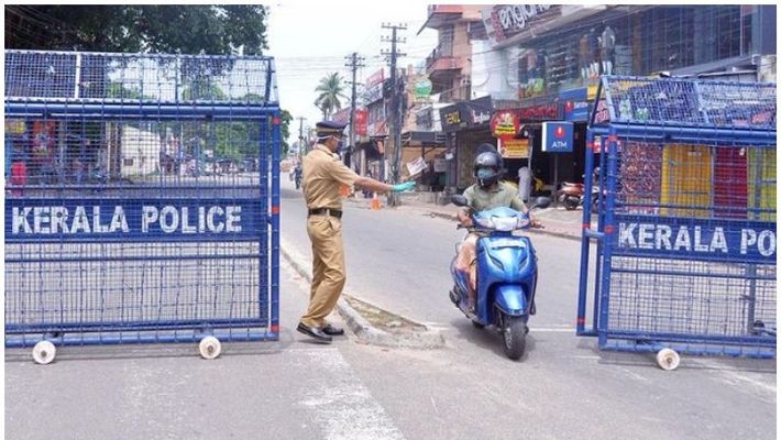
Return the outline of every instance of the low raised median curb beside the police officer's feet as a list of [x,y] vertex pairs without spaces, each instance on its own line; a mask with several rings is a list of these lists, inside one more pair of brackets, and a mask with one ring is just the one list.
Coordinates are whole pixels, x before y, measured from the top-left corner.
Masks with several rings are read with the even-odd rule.
[[[282,237],[279,238],[279,251],[282,251],[282,255],[298,275],[311,283],[311,265],[306,263],[306,260]],[[395,334],[377,329],[366,318],[355,311],[343,295],[337,301],[337,311],[344,318],[348,327],[355,333],[358,339],[369,344],[408,349],[438,349],[444,345],[444,337],[439,330],[430,329],[418,322],[415,323],[425,327],[425,331]],[[408,318],[404,319],[411,321]]]

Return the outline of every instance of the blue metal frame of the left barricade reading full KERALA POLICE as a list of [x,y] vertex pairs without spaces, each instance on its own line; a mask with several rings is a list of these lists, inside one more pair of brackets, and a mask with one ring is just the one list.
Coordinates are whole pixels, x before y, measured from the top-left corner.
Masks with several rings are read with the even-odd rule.
[[[9,90],[43,90],[45,88],[37,88],[33,79],[24,78],[25,75],[20,75],[20,72],[24,72],[22,67],[24,61],[28,59],[34,63],[37,59],[65,59],[66,64],[73,66],[75,63],[75,70],[73,75],[68,70],[68,76],[59,75],[59,73],[52,74],[55,77],[52,86],[53,90],[62,91],[62,96],[42,96],[47,92],[15,92],[9,96]],[[74,59],[70,59],[74,58]],[[128,92],[125,84],[122,82],[125,78],[121,78],[120,81],[114,81],[119,84],[120,95],[119,98],[107,98],[100,96],[84,96],[86,94],[84,90],[85,81],[79,76],[82,72],[81,68],[82,59],[95,59],[99,65],[105,61],[105,64],[119,63],[121,66],[122,61],[134,61],[139,64],[146,63],[150,72],[157,70],[158,81],[150,80],[150,73],[143,73],[133,79],[133,86],[140,86],[142,89],[144,85],[156,86],[157,87],[157,98],[152,99],[148,95],[140,94],[138,97],[124,96]],[[9,63],[13,59],[13,63]],[[119,59],[119,62],[117,62]],[[179,121],[180,123],[204,123],[204,124],[218,124],[218,123],[245,123],[246,127],[255,125],[260,132],[260,135],[254,139],[256,142],[256,157],[257,157],[257,174],[246,178],[250,183],[245,185],[235,184],[238,178],[233,178],[235,185],[218,186],[217,183],[206,183],[199,184],[169,184],[163,185],[163,177],[161,177],[160,185],[129,185],[123,182],[118,184],[84,184],[79,183],[76,185],[65,184],[61,182],[59,184],[40,184],[40,185],[29,185],[22,189],[19,186],[10,184],[7,179],[7,196],[6,196],[6,271],[7,271],[7,282],[6,282],[6,346],[7,348],[24,348],[32,346],[42,341],[48,341],[54,345],[102,345],[102,344],[128,344],[128,343],[153,343],[153,342],[198,342],[204,341],[207,337],[216,337],[219,340],[224,341],[261,341],[261,340],[278,340],[279,338],[279,161],[280,161],[280,139],[282,139],[282,111],[279,108],[277,88],[276,88],[276,67],[273,57],[267,56],[217,56],[217,55],[160,55],[160,54],[117,54],[117,53],[84,53],[84,52],[43,52],[43,51],[6,51],[6,90],[7,96],[4,97],[4,111],[6,120],[21,120],[28,121],[32,120],[43,120],[43,121],[54,121],[57,123],[82,123],[88,121],[90,123],[95,122],[114,122],[122,123],[132,121],[131,123],[139,123],[139,121],[150,122],[150,123],[163,123],[164,121]],[[13,70],[13,65],[20,68],[19,72]],[[237,99],[230,92],[228,96],[215,97],[207,96],[207,99],[193,98],[195,96],[195,81],[189,84],[190,87],[190,99],[185,98],[185,91],[187,86],[186,81],[183,80],[184,75],[182,74],[183,64],[189,63],[189,66],[204,68],[206,70],[212,65],[219,65],[223,78],[223,84],[228,84],[229,87],[232,85],[232,79],[230,75],[238,75],[239,73],[245,74],[244,89],[242,90],[245,96],[242,99]],[[242,65],[244,70],[237,69],[237,66]],[[22,66],[22,67],[20,67]],[[55,63],[48,65],[48,68],[55,70]],[[59,66],[59,65],[57,65]],[[160,72],[165,70],[167,67],[169,73],[174,73],[176,78],[164,78],[160,79]],[[175,67],[174,67],[175,66]],[[57,67],[59,68],[59,67]],[[108,77],[109,67],[99,67],[103,69],[103,75]],[[116,67],[114,67],[116,68]],[[66,69],[67,70],[67,69]],[[121,70],[121,68],[119,69]],[[143,69],[142,69],[143,70]],[[100,72],[100,70],[99,70]],[[262,74],[263,77],[257,78],[256,74]],[[16,82],[10,84],[9,77],[16,75]],[[36,74],[37,75],[37,74]],[[45,73],[43,75],[32,75],[35,78],[47,77]],[[207,78],[208,75],[204,73],[198,74],[198,78]],[[216,76],[219,74],[216,74]],[[56,82],[56,78],[59,76],[61,82]],[[64,79],[63,79],[64,78]],[[226,78],[227,82],[226,82]],[[92,78],[95,79],[95,78]],[[30,81],[31,86],[25,86],[24,81]],[[100,78],[98,79],[100,80]],[[108,80],[107,80],[108,81]],[[211,79],[209,79],[211,81]],[[62,85],[65,85],[61,87]],[[130,81],[128,82],[130,84]],[[69,86],[74,87],[74,95],[67,96],[67,89]],[[94,81],[95,85],[95,81]],[[59,87],[59,88],[58,88]],[[164,94],[169,94],[169,90],[164,90],[166,87],[175,87],[175,95],[173,98],[163,99],[161,98]],[[100,85],[99,90],[107,92],[109,87],[107,85]],[[237,91],[238,92],[238,91]],[[208,95],[208,94],[207,94]],[[184,122],[183,122],[184,121]],[[200,122],[199,122],[200,121]],[[211,125],[210,125],[211,127]],[[59,129],[58,129],[59,130]],[[211,128],[209,130],[212,130]],[[254,130],[254,129],[252,129]],[[250,132],[248,132],[250,133]],[[248,134],[248,136],[251,136]],[[252,142],[250,139],[248,142]],[[8,150],[7,150],[8,152]],[[196,162],[197,163],[197,162]],[[8,173],[8,170],[7,170]],[[216,180],[212,180],[216,182]],[[105,195],[100,195],[98,191],[103,191]],[[74,204],[81,205],[94,205],[99,207],[101,205],[111,204],[128,204],[130,200],[127,195],[123,197],[122,191],[133,193],[143,195],[139,200],[145,200],[147,202],[153,202],[154,200],[158,202],[178,204],[179,207],[186,207],[188,204],[211,204],[218,206],[220,202],[231,202],[233,205],[240,204],[238,206],[243,206],[244,211],[248,212],[249,217],[249,230],[243,231],[243,233],[237,232],[230,239],[221,238],[217,234],[211,235],[172,235],[170,238],[164,237],[162,233],[160,237],[147,234],[145,237],[139,233],[131,233],[127,235],[114,235],[110,238],[101,237],[82,237],[82,238],[67,238],[63,233],[58,237],[55,234],[50,239],[41,239],[33,235],[19,237],[14,235],[11,230],[10,219],[13,218],[13,209],[19,208],[22,205],[56,205],[56,204]],[[144,195],[148,191],[151,196]],[[165,191],[179,191],[178,197],[172,197],[170,194],[165,194]],[[204,191],[212,191],[215,196],[205,196]],[[233,193],[231,193],[233,191]],[[258,197],[254,196],[237,196],[238,194],[258,194]],[[14,195],[14,193],[18,193]],[[87,196],[96,193],[97,196]],[[157,197],[155,197],[155,194]],[[208,194],[208,193],[207,193]],[[139,197],[139,196],[136,196]],[[150,201],[152,200],[152,201]],[[91,204],[90,204],[91,202]],[[243,205],[241,205],[243,204]],[[130,204],[132,206],[139,206],[141,202]],[[77,211],[78,212],[78,211]],[[185,212],[185,211],[183,211]],[[215,211],[219,212],[219,211]],[[185,213],[186,216],[186,213]],[[201,213],[201,217],[204,215]],[[130,219],[130,216],[128,217]],[[210,217],[213,219],[213,216]],[[92,219],[95,220],[95,219]],[[26,220],[25,220],[26,221]],[[50,219],[51,221],[51,219]],[[178,221],[178,220],[177,220]],[[184,220],[183,220],[184,221]],[[239,220],[240,224],[241,221]],[[96,224],[99,224],[100,220],[97,220]],[[132,219],[129,220],[132,223]],[[204,219],[201,218],[201,222]],[[161,221],[162,223],[162,221]],[[228,223],[228,217],[226,215],[224,223]],[[127,226],[125,226],[127,227]],[[37,229],[38,226],[35,226]],[[52,226],[51,228],[55,228]],[[74,228],[75,229],[75,228]],[[183,226],[184,229],[184,226]],[[63,230],[66,230],[63,227]],[[227,229],[226,229],[227,231]],[[239,227],[241,231],[241,227]],[[15,231],[16,233],[19,231]],[[55,230],[56,232],[56,230]],[[198,231],[199,233],[202,231]],[[197,250],[199,245],[208,246],[211,245],[218,249],[220,245],[224,246],[224,250],[230,251],[229,245],[243,245],[242,243],[249,243],[251,245],[256,245],[257,251],[248,251],[243,255],[227,255],[227,254],[211,254],[195,252],[191,255],[185,254],[179,250],[179,255],[173,254],[160,254],[160,255],[135,255],[128,256],[120,254],[120,256],[107,257],[100,255],[88,255],[67,260],[62,257],[46,256],[41,253],[37,257],[30,257],[29,254],[24,253],[24,246],[41,246],[42,243],[50,243],[51,245],[61,246],[72,245],[72,246],[90,246],[90,245],[113,245],[114,249],[121,249],[123,244],[139,244],[146,245],[145,250],[158,250],[166,244],[177,246],[180,243],[182,246],[190,245],[193,249]],[[64,244],[65,243],[65,244]],[[9,245],[19,246],[19,251],[15,256],[9,256]],[[157,248],[155,248],[157,246]],[[40,248],[38,250],[46,248]],[[226,252],[228,252],[226,251]],[[61,253],[62,255],[62,253]],[[62,265],[77,262],[90,263],[90,262],[101,262],[109,264],[111,262],[124,262],[132,263],[138,261],[143,262],[166,262],[166,261],[195,261],[198,265],[206,265],[208,268],[216,271],[217,266],[209,266],[209,261],[239,261],[248,260],[251,263],[246,264],[248,271],[251,271],[253,265],[257,265],[256,274],[245,274],[249,279],[248,287],[250,288],[249,297],[245,299],[245,304],[242,306],[256,305],[257,309],[255,312],[252,310],[244,311],[243,317],[233,317],[232,309],[230,311],[231,316],[198,316],[196,318],[161,318],[158,319],[125,319],[125,310],[120,312],[120,318],[111,321],[100,321],[100,320],[81,320],[81,321],[66,321],[62,316],[67,315],[72,310],[63,309],[63,300],[61,299],[59,315],[61,319],[55,320],[40,320],[32,322],[14,322],[14,319],[20,316],[32,316],[34,315],[31,310],[25,312],[22,310],[14,310],[16,315],[9,315],[9,301],[13,301],[13,296],[19,295],[19,292],[14,293],[19,286],[9,285],[9,265],[33,265],[37,264],[43,266],[45,264],[58,263]],[[172,267],[161,267],[161,273],[163,270],[170,271]],[[42,272],[42,270],[38,270]],[[219,271],[218,271],[219,272]],[[44,274],[38,274],[43,279]],[[162,275],[161,275],[162,276]],[[256,279],[256,283],[254,282]],[[52,279],[45,280],[45,283],[51,283]],[[202,282],[201,278],[195,283]],[[43,282],[41,283],[43,284]],[[160,298],[161,304],[163,304],[163,296],[165,293],[164,283],[160,284]],[[253,286],[256,286],[257,290],[253,294]],[[179,286],[182,287],[182,286]],[[120,287],[119,289],[124,289],[125,287]],[[50,289],[51,290],[51,289]],[[48,290],[47,290],[48,292]],[[38,292],[38,296],[51,295],[51,292],[43,293]],[[124,293],[122,293],[124,298]],[[141,294],[143,296],[143,293]],[[80,294],[79,294],[80,297]],[[102,297],[100,297],[102,298]],[[215,295],[215,300],[218,296]],[[102,299],[101,299],[102,300]],[[231,297],[232,300],[232,297]],[[142,300],[143,301],[143,300]],[[178,307],[178,292],[177,292],[177,307]],[[11,302],[12,304],[12,302]],[[84,306],[85,304],[78,300],[75,304]],[[50,302],[38,302],[38,305],[51,306]],[[200,305],[200,302],[194,302],[194,307]],[[15,307],[15,306],[14,306]],[[52,306],[56,308],[55,306]],[[232,305],[230,307],[233,307]],[[238,306],[237,306],[238,307]],[[215,310],[217,310],[217,305],[215,305]],[[195,312],[199,315],[200,311]],[[79,315],[78,312],[74,312]],[[178,316],[179,309],[176,309]],[[45,314],[41,314],[44,316]],[[74,316],[75,316],[74,315]],[[128,314],[129,315],[129,314]],[[80,315],[84,317],[84,312]],[[143,316],[143,312],[142,312]],[[10,319],[11,318],[11,319]],[[26,320],[28,318],[24,318]],[[218,349],[219,352],[219,349]]]

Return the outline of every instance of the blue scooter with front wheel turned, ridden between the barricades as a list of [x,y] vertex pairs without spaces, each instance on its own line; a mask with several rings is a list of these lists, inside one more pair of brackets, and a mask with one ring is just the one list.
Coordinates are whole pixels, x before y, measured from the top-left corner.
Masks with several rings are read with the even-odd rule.
[[[452,196],[453,205],[465,207],[463,196]],[[539,197],[532,208],[546,208],[551,200]],[[454,287],[450,292],[453,301],[474,327],[494,326],[502,333],[505,354],[518,360],[526,350],[529,332],[529,316],[535,315],[535,289],[537,287],[537,256],[531,240],[514,231],[529,228],[529,217],[510,208],[496,208],[472,215],[471,231],[477,240],[477,293],[474,310],[469,308],[469,280],[455,270],[457,257],[450,265]],[[459,224],[459,228],[463,228]]]

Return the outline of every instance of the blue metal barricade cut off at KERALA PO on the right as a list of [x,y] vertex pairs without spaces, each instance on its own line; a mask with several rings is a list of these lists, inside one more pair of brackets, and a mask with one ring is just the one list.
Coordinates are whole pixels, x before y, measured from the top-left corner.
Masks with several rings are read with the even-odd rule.
[[578,333],[774,356],[776,85],[604,77],[587,146]]

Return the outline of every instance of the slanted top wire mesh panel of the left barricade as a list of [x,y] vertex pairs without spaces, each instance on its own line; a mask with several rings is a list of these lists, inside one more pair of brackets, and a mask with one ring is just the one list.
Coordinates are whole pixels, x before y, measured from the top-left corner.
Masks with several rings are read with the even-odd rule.
[[6,51],[6,98],[180,105],[277,102],[270,59]]

